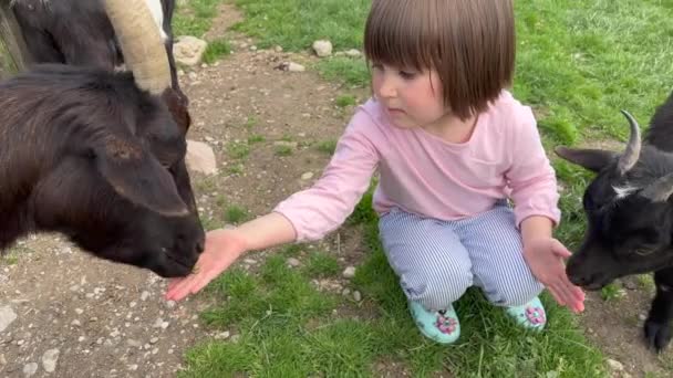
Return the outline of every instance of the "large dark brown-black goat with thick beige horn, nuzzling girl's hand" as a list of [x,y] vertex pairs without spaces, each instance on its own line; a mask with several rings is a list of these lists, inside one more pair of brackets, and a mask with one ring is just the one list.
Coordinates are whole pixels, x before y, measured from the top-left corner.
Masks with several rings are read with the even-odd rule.
[[188,125],[169,109],[166,53],[139,1],[106,0],[132,72],[43,64],[0,83],[0,250],[56,231],[162,276],[193,270],[204,230]]

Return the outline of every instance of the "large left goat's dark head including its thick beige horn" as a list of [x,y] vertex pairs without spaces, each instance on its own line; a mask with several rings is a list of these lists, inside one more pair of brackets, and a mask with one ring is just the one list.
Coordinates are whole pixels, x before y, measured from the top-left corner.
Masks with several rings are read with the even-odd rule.
[[86,158],[61,161],[53,172],[53,183],[71,192],[56,190],[52,200],[69,197],[62,203],[69,203],[72,214],[87,214],[69,219],[71,238],[86,250],[162,276],[184,276],[204,248],[185,166],[187,104],[170,87],[166,51],[144,1],[106,0],[105,10],[143,92],[127,108],[142,109],[134,114],[142,117],[122,115],[103,133],[82,140],[74,156]]

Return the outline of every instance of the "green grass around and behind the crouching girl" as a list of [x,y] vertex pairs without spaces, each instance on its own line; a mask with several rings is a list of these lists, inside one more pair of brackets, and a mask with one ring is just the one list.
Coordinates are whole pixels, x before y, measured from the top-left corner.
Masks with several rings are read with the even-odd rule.
[[[246,20],[236,30],[259,48],[280,44],[289,51],[310,49],[329,39],[336,50],[361,49],[369,0],[232,0]],[[178,18],[178,30],[203,33],[216,0],[193,0]],[[199,13],[200,12],[200,13]],[[673,87],[673,3],[656,0],[516,1],[518,55],[515,95],[534,106],[546,147],[597,139],[624,140],[630,111],[646,125],[654,107]],[[200,15],[199,15],[200,14]],[[287,22],[292,20],[292,22]],[[205,29],[204,29],[205,28]],[[363,61],[332,57],[317,69],[325,80],[350,86],[369,82]],[[578,198],[589,176],[553,160],[565,185],[563,223],[558,230],[569,248],[580,240],[583,216]],[[236,328],[237,343],[205,340],[188,353],[185,377],[376,376],[374,366],[395,361],[414,376],[451,371],[457,377],[603,377],[603,356],[590,345],[573,316],[543,296],[549,314],[542,334],[514,327],[476,291],[457,303],[463,336],[445,347],[424,339],[413,325],[402,291],[387,266],[376,235],[371,197],[349,219],[363,229],[369,259],[359,266],[353,288],[366,308],[342,296],[319,293],[314,277],[340,274],[335,259],[318,250],[301,271],[284,259],[302,246],[289,246],[250,275],[231,270],[205,295],[230,296],[203,318],[214,327]],[[335,317],[335,308],[367,311],[367,319]]]

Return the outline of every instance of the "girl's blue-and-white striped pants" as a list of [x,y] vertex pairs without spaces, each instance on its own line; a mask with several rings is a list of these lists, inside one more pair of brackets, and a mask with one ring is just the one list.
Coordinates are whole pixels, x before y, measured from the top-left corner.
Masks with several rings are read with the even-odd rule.
[[543,288],[524,260],[514,212],[504,202],[457,221],[392,209],[379,229],[405,295],[428,311],[446,308],[473,284],[499,306],[526,304]]

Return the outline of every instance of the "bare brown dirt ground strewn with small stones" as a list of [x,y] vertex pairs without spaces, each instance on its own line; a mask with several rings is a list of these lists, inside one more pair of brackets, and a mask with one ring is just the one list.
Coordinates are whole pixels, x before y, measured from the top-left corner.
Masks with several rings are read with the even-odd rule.
[[[222,25],[239,17],[228,6],[221,14],[208,38],[227,33]],[[308,54],[252,51],[252,41],[232,39],[231,56],[180,77],[191,98],[189,137],[210,144],[218,160],[217,176],[193,176],[201,217],[211,227],[224,223],[231,206],[248,217],[261,214],[310,185],[329,159],[317,144],[335,140],[352,114],[334,98],[348,93],[361,102],[367,95],[325,83],[310,70],[277,69],[288,61],[310,65],[315,57]],[[341,260],[358,260],[358,238],[344,235]],[[0,262],[0,377],[173,377],[195,343],[236,337],[204,328],[203,297],[166,303],[164,280],[90,258],[59,235],[28,238],[15,252],[17,261]],[[253,267],[262,259],[249,255],[240,264]],[[671,366],[670,353],[658,357],[642,345],[650,295],[635,287],[612,305],[591,295],[581,316],[590,339],[623,364],[618,376]]]

